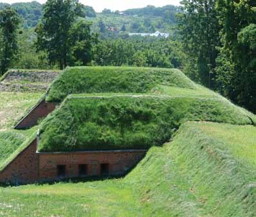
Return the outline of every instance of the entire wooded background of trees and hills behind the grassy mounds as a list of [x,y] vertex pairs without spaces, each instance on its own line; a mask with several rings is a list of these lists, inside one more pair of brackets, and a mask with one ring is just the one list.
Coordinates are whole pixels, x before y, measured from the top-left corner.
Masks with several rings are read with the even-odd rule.
[[[183,0],[179,7],[96,13],[76,0],[0,3],[1,73],[67,65],[177,67],[256,112],[255,6],[252,0]],[[155,31],[170,37],[129,35]]]

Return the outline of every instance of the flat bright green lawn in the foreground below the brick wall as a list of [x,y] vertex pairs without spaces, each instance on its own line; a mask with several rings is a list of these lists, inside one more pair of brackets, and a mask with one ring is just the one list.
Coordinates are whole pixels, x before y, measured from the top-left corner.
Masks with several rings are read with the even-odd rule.
[[122,180],[0,187],[0,216],[144,216]]

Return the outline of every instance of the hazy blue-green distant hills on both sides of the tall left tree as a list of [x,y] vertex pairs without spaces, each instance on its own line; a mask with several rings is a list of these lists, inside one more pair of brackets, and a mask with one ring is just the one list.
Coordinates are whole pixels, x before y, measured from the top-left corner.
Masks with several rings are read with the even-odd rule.
[[[42,17],[43,4],[37,1],[31,3],[0,3],[0,10],[5,6],[14,7],[23,19],[24,28],[33,28]],[[170,32],[172,25],[176,24],[175,15],[179,12],[178,6],[167,5],[163,7],[147,6],[123,12],[103,10],[96,13],[91,6],[84,6],[84,15],[93,22],[93,31],[107,33],[111,31],[129,32]]]

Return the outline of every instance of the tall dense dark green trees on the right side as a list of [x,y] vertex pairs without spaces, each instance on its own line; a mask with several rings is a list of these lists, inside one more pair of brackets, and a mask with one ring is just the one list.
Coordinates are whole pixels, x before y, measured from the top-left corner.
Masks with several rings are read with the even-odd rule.
[[177,15],[184,71],[256,112],[256,2],[183,0]]

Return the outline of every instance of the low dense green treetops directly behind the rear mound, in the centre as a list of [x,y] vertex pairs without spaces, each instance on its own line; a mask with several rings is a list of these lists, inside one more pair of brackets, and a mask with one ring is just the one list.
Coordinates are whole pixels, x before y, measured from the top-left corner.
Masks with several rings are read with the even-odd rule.
[[95,47],[96,65],[137,65],[181,68],[183,53],[178,42],[156,37],[102,40]]

